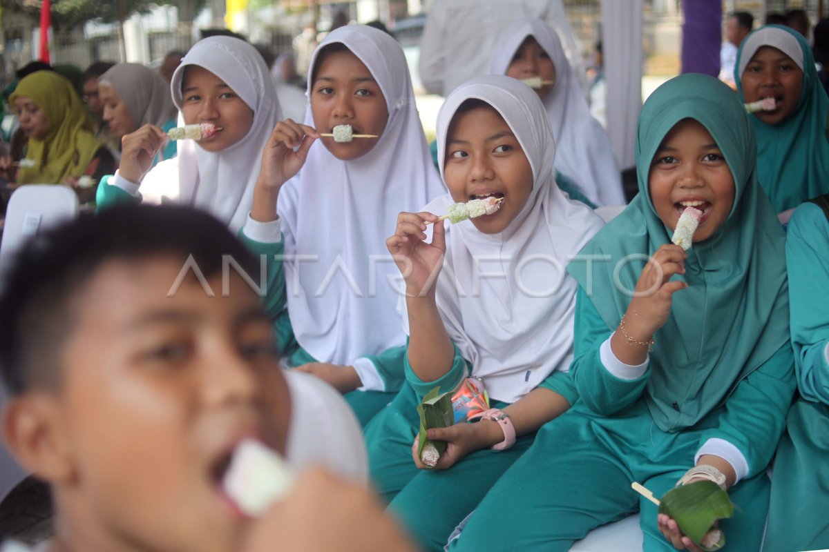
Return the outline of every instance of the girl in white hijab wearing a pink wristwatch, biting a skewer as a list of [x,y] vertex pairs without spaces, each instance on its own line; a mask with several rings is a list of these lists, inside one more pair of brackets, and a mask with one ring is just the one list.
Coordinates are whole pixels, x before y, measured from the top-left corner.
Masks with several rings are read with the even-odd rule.
[[[407,384],[366,428],[372,478],[425,550],[442,550],[536,429],[578,398],[567,373],[577,286],[564,267],[602,226],[555,184],[550,123],[526,84],[462,84],[440,110],[438,146],[449,193],[401,213],[387,241],[405,279]],[[502,198],[495,214],[435,222],[455,202],[491,195]],[[448,448],[435,471],[419,471],[415,407],[470,375],[494,408],[476,424],[429,430]]]

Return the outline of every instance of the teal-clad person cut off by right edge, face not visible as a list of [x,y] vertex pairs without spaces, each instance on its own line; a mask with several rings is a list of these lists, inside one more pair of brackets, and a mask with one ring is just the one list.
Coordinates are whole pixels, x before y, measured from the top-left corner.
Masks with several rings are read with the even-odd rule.
[[774,458],[769,552],[829,548],[829,195],[795,209],[786,262],[801,398]]

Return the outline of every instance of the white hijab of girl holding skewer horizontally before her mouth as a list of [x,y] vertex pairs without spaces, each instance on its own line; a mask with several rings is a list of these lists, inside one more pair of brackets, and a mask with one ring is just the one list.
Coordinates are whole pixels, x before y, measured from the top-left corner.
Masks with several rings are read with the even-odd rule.
[[[303,169],[279,192],[286,255],[315,261],[285,262],[288,314],[297,342],[320,362],[350,364],[405,343],[396,309],[399,276],[385,247],[400,211],[419,209],[442,194],[414,105],[400,45],[370,26],[343,26],[319,51],[342,43],[366,65],[389,111],[376,145],[340,161],[317,142]],[[313,83],[308,83],[311,98]],[[305,122],[313,126],[310,104]],[[329,276],[329,272],[333,276]],[[372,289],[372,286],[374,289]]]

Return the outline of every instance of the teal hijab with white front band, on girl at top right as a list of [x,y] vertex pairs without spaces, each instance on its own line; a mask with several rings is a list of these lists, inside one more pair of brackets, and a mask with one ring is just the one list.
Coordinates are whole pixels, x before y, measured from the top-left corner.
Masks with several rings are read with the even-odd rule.
[[800,99],[785,121],[768,125],[749,117],[757,135],[757,176],[779,213],[829,192],[829,99],[817,78],[815,59],[806,39],[786,26],[768,25],[751,32],[739,46],[734,80],[741,101],[744,98],[740,78],[763,46],[781,50],[803,71]]

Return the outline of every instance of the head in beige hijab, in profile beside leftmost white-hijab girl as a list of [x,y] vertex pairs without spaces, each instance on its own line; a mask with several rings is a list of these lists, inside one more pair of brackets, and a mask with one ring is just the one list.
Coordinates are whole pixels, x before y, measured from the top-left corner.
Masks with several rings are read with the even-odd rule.
[[[177,109],[170,86],[161,74],[139,63],[117,63],[98,79],[104,122],[119,138],[147,123],[167,132],[176,126]],[[164,159],[176,156],[176,142],[167,142]]]

